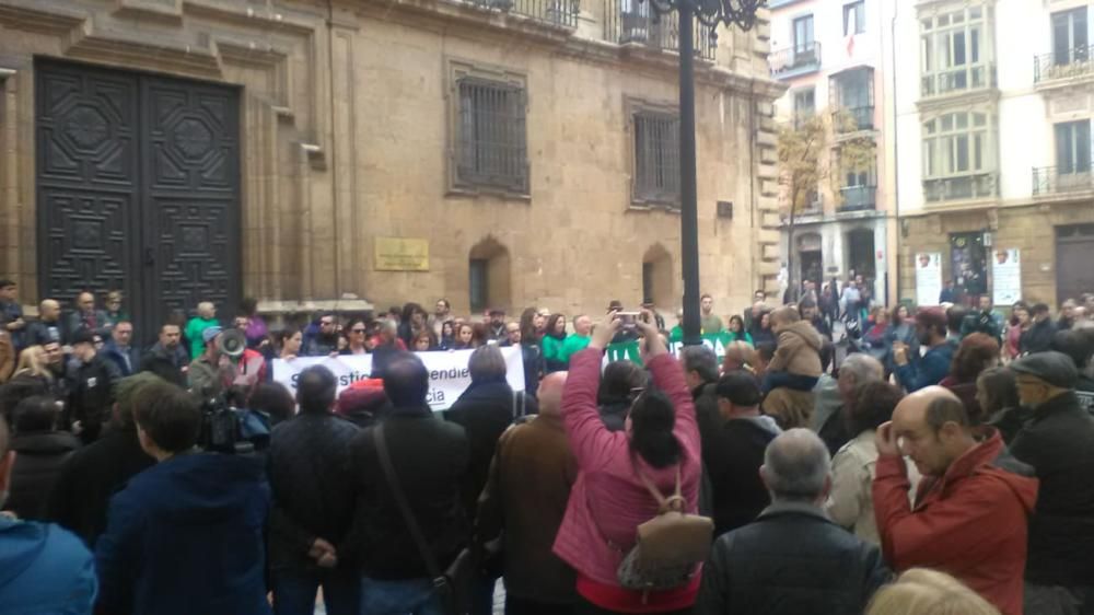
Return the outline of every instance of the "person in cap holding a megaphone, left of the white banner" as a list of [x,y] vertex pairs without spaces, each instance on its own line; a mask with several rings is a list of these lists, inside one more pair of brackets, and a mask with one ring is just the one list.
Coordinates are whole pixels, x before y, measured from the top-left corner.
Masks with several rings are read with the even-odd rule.
[[231,386],[242,387],[245,399],[266,380],[266,360],[249,348],[238,329],[209,327],[201,332],[205,352],[190,363],[190,391],[200,399],[220,397]]

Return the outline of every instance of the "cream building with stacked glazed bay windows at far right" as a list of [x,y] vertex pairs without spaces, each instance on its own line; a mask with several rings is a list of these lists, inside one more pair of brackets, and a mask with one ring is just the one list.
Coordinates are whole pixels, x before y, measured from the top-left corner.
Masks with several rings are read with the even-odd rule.
[[[903,299],[917,299],[918,254],[940,255],[944,280],[973,278],[959,282],[969,301],[1059,305],[1094,292],[1092,9],[1089,0],[896,4],[894,49],[919,51],[893,54],[886,68]],[[997,259],[1020,263],[1020,285],[997,279]]]

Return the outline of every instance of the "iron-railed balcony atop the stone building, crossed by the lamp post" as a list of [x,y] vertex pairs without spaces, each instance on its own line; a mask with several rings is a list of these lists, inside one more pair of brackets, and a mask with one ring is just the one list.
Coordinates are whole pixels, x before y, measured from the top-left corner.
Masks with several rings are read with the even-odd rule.
[[[710,26],[695,23],[694,42],[697,58],[714,61],[717,45]],[[604,2],[604,38],[619,45],[640,45],[665,51],[679,50],[679,16],[676,12],[657,16],[650,2],[606,0]]]

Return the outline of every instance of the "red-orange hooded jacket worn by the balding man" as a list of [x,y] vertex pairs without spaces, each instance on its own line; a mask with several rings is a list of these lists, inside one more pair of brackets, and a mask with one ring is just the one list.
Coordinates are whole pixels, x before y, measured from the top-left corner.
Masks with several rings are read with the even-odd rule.
[[953,575],[1003,615],[1021,615],[1026,536],[1037,479],[1004,453],[993,429],[941,478],[924,477],[916,506],[898,455],[877,457],[874,515],[885,560],[897,571],[933,568]]

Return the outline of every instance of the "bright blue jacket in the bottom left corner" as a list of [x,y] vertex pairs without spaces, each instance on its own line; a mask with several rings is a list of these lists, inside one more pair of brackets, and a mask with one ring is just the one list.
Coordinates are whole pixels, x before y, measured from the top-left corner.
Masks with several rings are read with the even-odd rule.
[[80,538],[54,523],[0,515],[0,611],[86,615],[97,587]]

